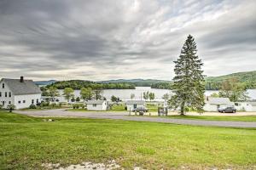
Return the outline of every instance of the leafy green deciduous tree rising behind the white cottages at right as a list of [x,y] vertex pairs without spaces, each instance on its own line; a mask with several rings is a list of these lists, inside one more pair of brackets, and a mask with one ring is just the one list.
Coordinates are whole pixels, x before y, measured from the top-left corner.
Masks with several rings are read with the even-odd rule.
[[239,83],[236,78],[231,78],[222,83],[219,97],[229,98],[230,101],[246,101],[246,87]]

